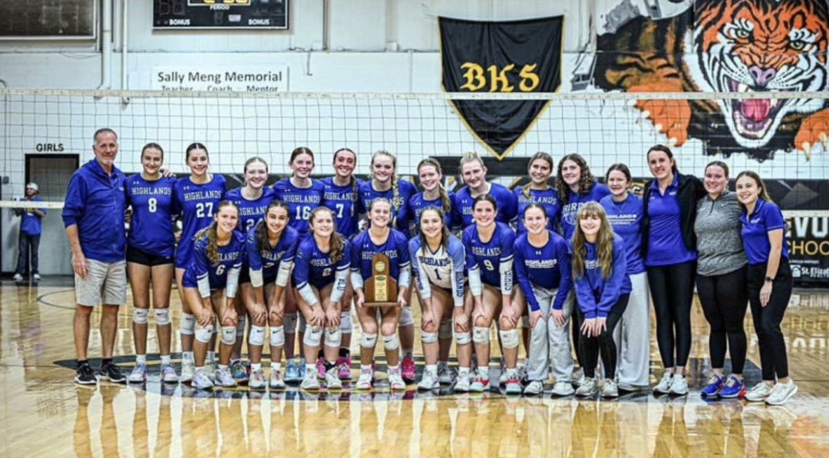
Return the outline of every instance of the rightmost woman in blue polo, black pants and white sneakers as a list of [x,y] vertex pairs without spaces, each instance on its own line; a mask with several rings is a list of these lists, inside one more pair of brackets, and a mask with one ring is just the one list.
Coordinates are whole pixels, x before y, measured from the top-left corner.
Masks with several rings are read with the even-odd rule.
[[797,392],[797,385],[788,377],[786,343],[780,329],[793,285],[786,223],[757,173],[746,170],[737,175],[737,198],[745,207],[741,235],[749,258],[749,304],[763,366],[763,382],[754,385],[745,399],[780,405]]

